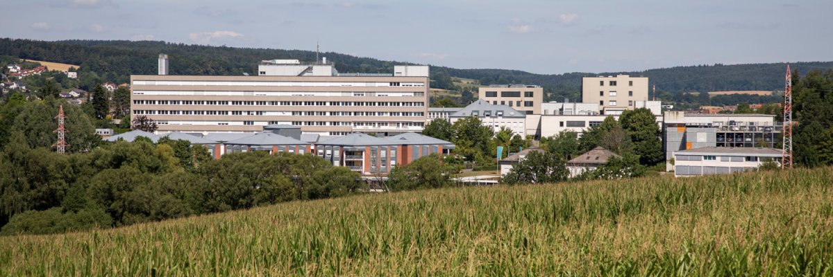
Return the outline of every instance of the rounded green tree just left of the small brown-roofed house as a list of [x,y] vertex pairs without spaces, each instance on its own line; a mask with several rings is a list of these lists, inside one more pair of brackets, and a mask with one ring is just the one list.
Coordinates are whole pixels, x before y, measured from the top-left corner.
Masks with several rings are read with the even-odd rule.
[[505,184],[540,184],[566,181],[570,172],[566,161],[552,152],[530,151],[526,158],[512,166],[506,176],[501,178]]

